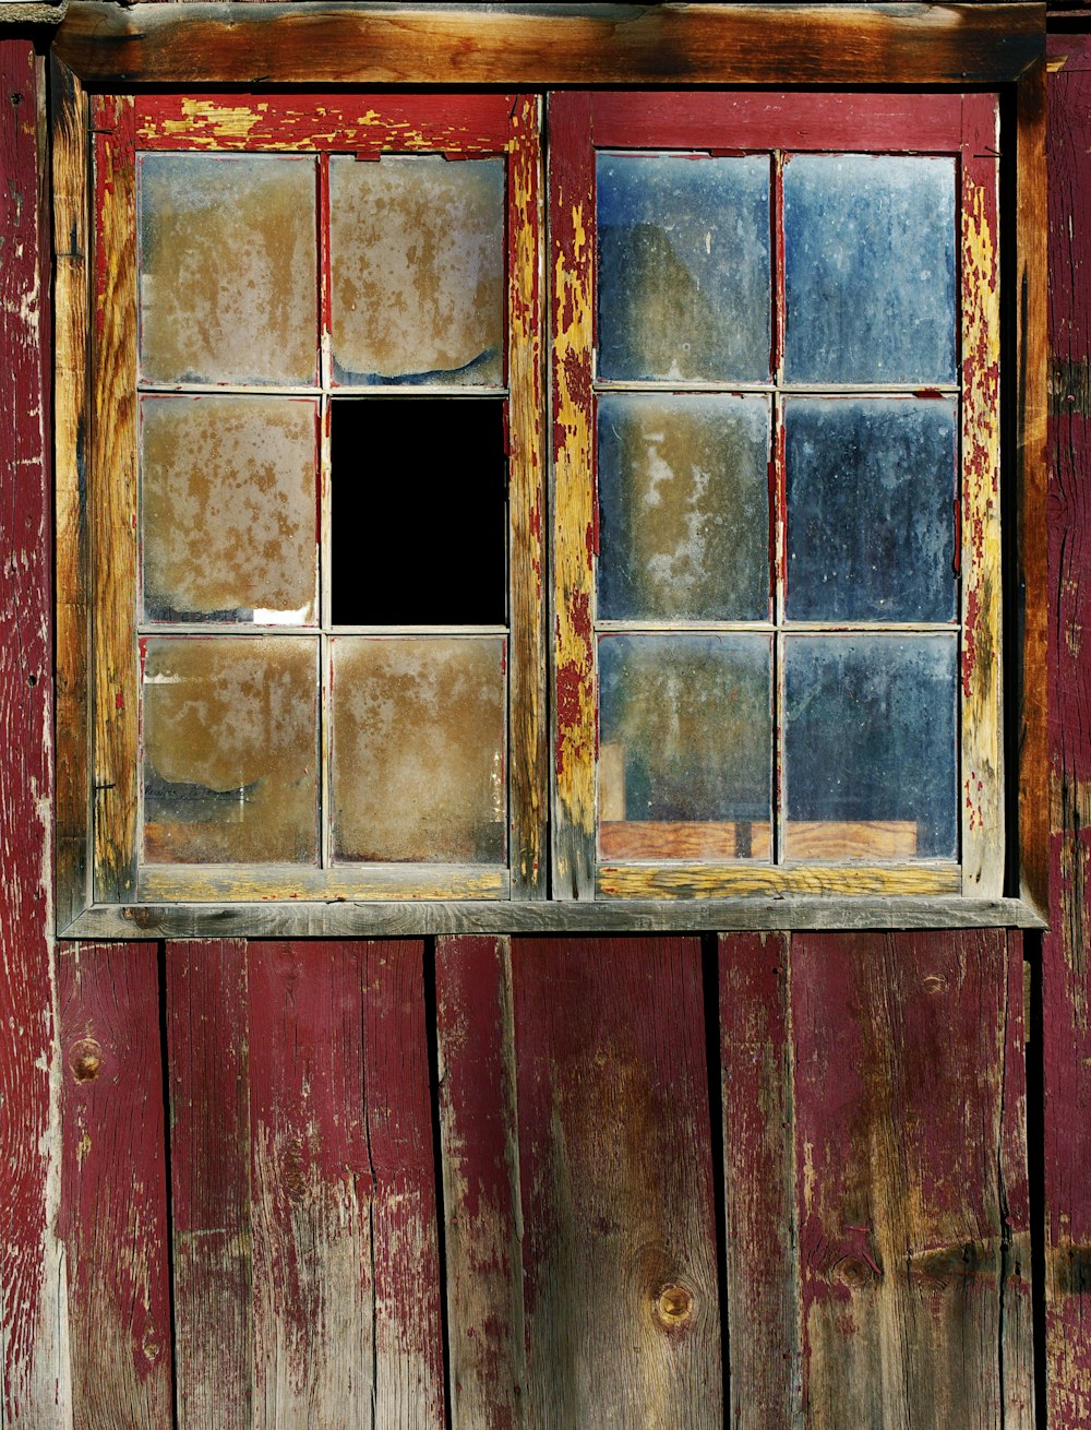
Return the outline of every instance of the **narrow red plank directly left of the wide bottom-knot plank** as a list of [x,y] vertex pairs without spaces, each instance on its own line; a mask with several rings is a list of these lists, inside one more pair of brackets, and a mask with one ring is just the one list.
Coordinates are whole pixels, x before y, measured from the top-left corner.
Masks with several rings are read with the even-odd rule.
[[453,1430],[522,1430],[526,1348],[506,938],[436,942]]

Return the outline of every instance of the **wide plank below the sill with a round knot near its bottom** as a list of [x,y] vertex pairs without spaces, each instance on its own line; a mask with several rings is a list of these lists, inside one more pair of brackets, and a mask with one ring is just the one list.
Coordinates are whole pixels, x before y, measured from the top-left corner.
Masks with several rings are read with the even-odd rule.
[[512,950],[529,1424],[724,1423],[701,944]]

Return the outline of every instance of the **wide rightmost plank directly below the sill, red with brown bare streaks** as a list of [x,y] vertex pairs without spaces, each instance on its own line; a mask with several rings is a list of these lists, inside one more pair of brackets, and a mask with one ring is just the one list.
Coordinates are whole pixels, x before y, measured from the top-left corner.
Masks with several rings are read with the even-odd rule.
[[1021,1004],[999,931],[792,938],[809,1426],[1032,1424]]

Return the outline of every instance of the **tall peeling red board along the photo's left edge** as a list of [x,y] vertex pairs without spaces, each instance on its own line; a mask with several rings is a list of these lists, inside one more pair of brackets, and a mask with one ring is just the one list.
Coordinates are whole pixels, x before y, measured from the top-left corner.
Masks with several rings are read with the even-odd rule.
[[69,1414],[51,945],[51,518],[44,92],[0,39],[0,1424]]

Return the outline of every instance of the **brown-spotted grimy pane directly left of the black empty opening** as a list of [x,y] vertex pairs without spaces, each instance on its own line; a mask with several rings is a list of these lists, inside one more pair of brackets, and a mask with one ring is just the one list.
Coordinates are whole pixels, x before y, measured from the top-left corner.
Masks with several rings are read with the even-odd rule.
[[312,623],[316,473],[315,402],[144,398],[144,618]]

